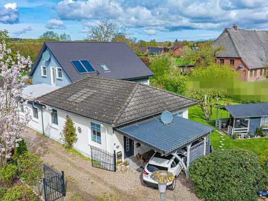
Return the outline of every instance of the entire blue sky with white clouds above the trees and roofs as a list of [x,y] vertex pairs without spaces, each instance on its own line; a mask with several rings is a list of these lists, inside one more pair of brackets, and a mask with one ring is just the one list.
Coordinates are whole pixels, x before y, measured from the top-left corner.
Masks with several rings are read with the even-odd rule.
[[142,40],[214,39],[225,27],[268,29],[267,0],[0,0],[0,30],[38,38],[48,30],[73,40],[109,18]]

